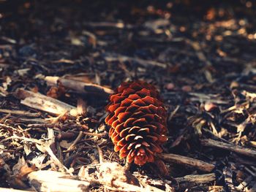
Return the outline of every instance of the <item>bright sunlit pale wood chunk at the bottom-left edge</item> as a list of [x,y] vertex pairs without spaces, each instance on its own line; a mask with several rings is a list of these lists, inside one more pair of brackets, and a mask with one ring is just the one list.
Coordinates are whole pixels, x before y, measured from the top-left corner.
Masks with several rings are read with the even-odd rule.
[[89,182],[74,180],[69,174],[53,171],[38,171],[28,174],[31,186],[37,191],[66,192],[89,191]]

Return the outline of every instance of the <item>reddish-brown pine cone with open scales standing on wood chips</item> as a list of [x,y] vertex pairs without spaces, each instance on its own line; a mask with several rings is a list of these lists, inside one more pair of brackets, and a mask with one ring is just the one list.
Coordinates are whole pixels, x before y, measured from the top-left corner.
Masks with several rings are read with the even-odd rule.
[[138,165],[154,162],[167,140],[167,115],[157,89],[143,81],[123,82],[106,110],[105,123],[119,157]]

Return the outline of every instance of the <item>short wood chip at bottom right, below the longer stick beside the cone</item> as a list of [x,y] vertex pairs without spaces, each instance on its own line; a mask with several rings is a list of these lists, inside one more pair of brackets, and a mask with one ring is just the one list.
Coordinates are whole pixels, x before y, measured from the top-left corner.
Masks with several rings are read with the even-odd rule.
[[200,185],[203,183],[210,183],[216,180],[214,173],[209,174],[189,174],[184,177],[176,177],[176,181],[181,188],[190,188],[194,185]]

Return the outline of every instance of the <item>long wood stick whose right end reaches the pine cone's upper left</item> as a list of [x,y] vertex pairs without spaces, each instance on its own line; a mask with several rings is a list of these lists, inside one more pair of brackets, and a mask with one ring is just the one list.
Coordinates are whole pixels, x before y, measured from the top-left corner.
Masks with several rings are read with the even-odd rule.
[[48,85],[57,85],[58,82],[61,82],[61,85],[63,85],[65,88],[68,88],[77,93],[83,93],[83,94],[90,93],[90,94],[96,94],[100,96],[108,96],[113,93],[112,89],[105,88],[101,85],[96,85],[93,83],[81,82],[76,80],[68,80],[61,77],[47,76],[45,77],[45,81],[48,83]]

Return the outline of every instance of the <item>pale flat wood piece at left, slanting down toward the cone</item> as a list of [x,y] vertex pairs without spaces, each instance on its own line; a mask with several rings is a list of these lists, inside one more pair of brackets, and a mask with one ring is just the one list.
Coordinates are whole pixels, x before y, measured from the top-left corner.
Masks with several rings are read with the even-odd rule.
[[22,99],[20,101],[21,104],[37,110],[50,112],[55,115],[62,115],[64,113],[70,112],[71,110],[76,110],[75,107],[62,101],[42,95],[41,93],[26,91],[21,88],[18,88],[18,90],[15,92],[15,96],[18,99]]

